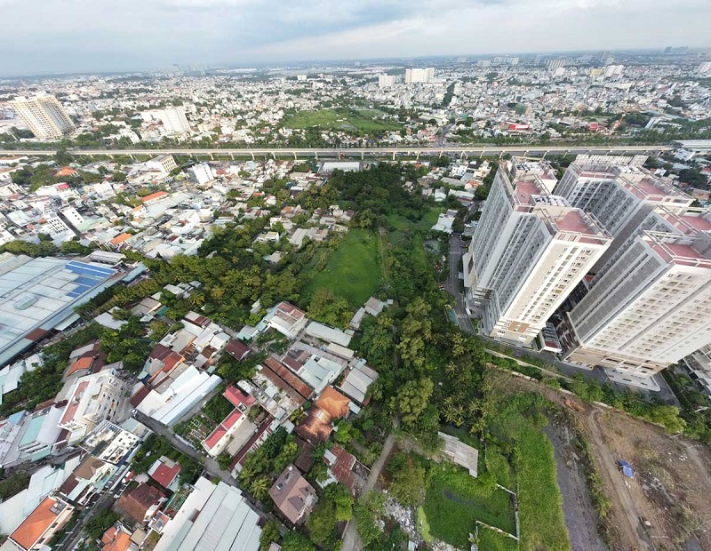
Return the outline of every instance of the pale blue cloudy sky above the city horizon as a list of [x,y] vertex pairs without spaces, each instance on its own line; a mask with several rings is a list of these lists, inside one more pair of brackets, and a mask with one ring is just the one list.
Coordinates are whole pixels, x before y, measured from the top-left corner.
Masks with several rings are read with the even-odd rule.
[[0,75],[711,46],[709,0],[0,0]]

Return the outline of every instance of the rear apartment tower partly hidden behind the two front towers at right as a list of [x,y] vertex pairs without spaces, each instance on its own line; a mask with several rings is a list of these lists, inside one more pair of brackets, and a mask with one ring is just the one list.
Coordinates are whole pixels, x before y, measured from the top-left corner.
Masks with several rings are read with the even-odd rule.
[[657,206],[683,212],[693,199],[677,188],[636,166],[573,163],[555,193],[595,216],[615,241],[593,268],[597,272],[635,234]]

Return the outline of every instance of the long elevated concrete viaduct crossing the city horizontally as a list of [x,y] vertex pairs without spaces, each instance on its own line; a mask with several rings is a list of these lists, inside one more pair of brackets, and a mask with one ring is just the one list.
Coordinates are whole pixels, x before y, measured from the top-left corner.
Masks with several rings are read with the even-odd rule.
[[[555,154],[582,154],[605,155],[611,153],[649,153],[658,151],[671,151],[671,146],[601,146],[601,145],[517,145],[495,146],[486,144],[473,144],[470,146],[435,146],[411,148],[160,148],[160,149],[71,149],[71,153],[85,156],[132,156],[132,155],[204,155],[204,156],[361,156],[387,155],[419,156],[443,155],[447,153],[465,155],[555,155]],[[56,149],[6,149],[0,150],[0,155],[7,156],[53,156]]]

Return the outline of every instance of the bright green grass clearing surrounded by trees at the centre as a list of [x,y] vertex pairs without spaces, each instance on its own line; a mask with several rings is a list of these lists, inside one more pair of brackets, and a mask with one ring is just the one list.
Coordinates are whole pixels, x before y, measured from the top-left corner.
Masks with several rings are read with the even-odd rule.
[[314,273],[304,290],[306,295],[316,289],[329,289],[347,299],[355,311],[371,298],[382,280],[379,238],[366,229],[351,229],[331,252],[325,268],[311,269]]

